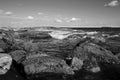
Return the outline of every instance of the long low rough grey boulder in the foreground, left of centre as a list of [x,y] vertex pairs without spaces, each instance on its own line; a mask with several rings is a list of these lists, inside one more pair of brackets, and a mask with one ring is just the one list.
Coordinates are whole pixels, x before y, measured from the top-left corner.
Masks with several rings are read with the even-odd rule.
[[64,60],[45,54],[31,55],[31,57],[26,58],[23,65],[27,74],[37,74],[42,72],[74,74]]

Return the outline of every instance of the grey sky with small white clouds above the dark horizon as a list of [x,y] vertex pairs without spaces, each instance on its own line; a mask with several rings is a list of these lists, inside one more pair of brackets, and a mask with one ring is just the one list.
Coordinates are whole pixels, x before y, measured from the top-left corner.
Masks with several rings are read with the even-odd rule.
[[120,0],[0,0],[0,27],[120,26]]

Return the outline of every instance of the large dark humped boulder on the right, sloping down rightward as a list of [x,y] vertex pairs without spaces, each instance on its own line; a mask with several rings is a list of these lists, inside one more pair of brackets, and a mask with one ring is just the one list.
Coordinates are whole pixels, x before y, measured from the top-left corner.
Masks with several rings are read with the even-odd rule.
[[114,56],[111,51],[108,51],[89,41],[76,47],[73,56],[76,56],[79,60],[82,60],[82,67],[92,72],[100,71],[99,62],[110,64],[119,63],[119,59]]

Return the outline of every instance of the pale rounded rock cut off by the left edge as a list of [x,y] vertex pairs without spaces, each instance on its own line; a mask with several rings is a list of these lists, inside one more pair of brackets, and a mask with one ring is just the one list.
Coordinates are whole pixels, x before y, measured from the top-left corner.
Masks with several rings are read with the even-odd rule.
[[12,57],[8,54],[0,53],[0,75],[7,73],[12,64]]

